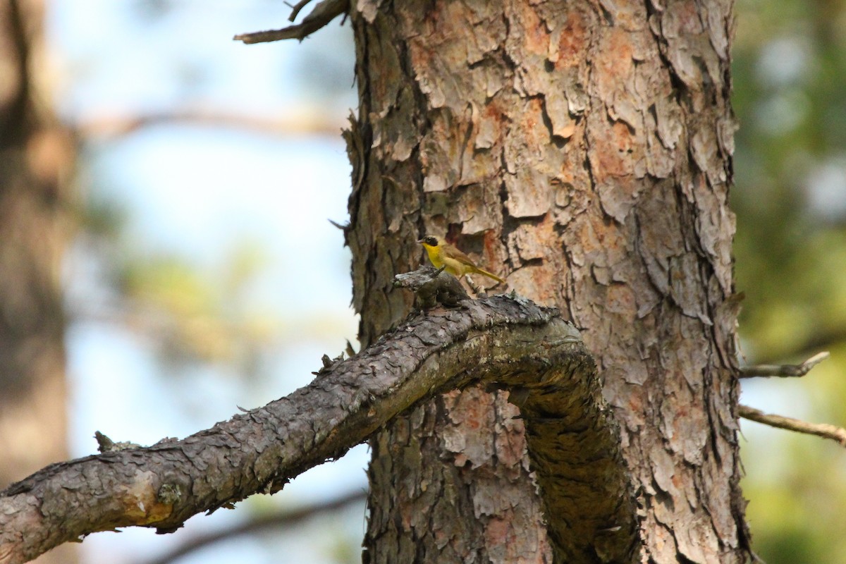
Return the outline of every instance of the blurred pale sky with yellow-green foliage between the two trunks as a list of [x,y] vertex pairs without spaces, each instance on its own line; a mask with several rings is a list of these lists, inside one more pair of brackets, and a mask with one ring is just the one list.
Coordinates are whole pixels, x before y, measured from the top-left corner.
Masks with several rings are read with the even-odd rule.
[[[231,40],[289,13],[272,0],[47,0],[49,95],[80,140],[64,269],[74,456],[96,449],[94,430],[150,444],[261,406],[355,341],[349,251],[327,221],[347,217],[349,27]],[[164,562],[243,528],[179,562],[360,561],[366,457],[360,446],[178,534],[92,535],[80,559]],[[352,501],[285,521],[338,498]]]

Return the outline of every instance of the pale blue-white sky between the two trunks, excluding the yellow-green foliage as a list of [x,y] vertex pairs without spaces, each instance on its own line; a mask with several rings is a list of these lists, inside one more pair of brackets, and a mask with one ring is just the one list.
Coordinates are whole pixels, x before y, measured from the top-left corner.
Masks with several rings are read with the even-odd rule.
[[[74,314],[74,456],[96,450],[94,430],[142,444],[182,437],[228,419],[238,406],[254,408],[305,385],[321,354],[340,353],[357,329],[349,251],[327,221],[347,218],[349,162],[340,128],[355,104],[349,27],[335,23],[303,44],[244,46],[231,37],[286,25],[289,8],[270,1],[53,0],[47,9],[56,106],[64,120],[94,132],[81,153],[80,193],[124,211],[121,237],[133,252],[178,256],[207,276],[232,249],[255,242],[262,266],[239,305],[261,308],[272,320],[273,350],[262,357],[266,377],[259,381],[244,381],[226,364],[162,364],[155,334],[108,315],[115,306],[104,276],[108,256],[80,237],[64,269]],[[196,111],[300,126],[286,132],[164,123],[122,135],[92,126]],[[337,122],[338,134],[302,134],[314,118]],[[244,504],[260,511],[363,489],[366,457],[360,446],[272,499],[195,517],[179,534],[91,535],[82,545],[85,562],[144,561],[202,529],[248,517]],[[338,542],[360,539],[363,511],[351,508],[331,528],[301,528],[273,544],[239,540],[182,561],[277,561],[274,551],[285,539],[293,541],[283,549],[288,561],[337,561]]]

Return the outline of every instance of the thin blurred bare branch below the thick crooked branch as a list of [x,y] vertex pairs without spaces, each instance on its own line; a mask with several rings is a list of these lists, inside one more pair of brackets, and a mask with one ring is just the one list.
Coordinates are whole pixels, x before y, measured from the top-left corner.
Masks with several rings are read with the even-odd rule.
[[316,517],[316,515],[319,515],[320,513],[333,512],[352,503],[363,502],[366,497],[366,491],[354,491],[350,492],[346,496],[341,496],[338,497],[338,499],[327,501],[325,503],[300,507],[298,509],[294,509],[293,511],[279,512],[272,515],[261,515],[260,517],[250,519],[250,521],[246,523],[242,523],[234,527],[228,527],[222,531],[197,536],[187,542],[184,542],[182,545],[177,546],[176,549],[171,550],[167,554],[159,556],[155,560],[147,561],[146,564],[169,564],[178,558],[189,555],[195,550],[201,550],[208,545],[212,545],[222,540],[232,539],[233,537],[238,537],[244,534],[254,534],[266,529],[290,527],[291,525],[301,523],[311,517]]

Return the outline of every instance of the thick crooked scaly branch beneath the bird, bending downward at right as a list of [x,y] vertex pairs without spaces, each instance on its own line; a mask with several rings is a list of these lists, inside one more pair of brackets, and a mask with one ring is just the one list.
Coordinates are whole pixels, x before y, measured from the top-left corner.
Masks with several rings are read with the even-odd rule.
[[[521,298],[412,316],[310,385],[182,441],[53,464],[0,492],[0,564],[96,531],[171,532],[198,512],[283,488],[440,392],[508,389],[525,419],[557,561],[623,561],[635,511],[618,430],[579,333]],[[601,553],[596,554],[596,550]]]

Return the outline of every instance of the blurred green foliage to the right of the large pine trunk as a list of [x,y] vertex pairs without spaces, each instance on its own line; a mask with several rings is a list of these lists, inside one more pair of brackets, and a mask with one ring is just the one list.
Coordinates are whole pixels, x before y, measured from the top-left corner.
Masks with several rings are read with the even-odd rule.
[[[744,381],[768,413],[846,424],[846,2],[739,0],[733,46],[737,286],[749,364],[832,358]],[[846,562],[846,452],[744,421],[744,494],[768,564]]]

